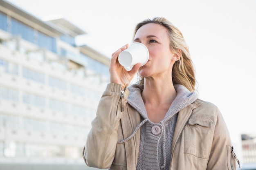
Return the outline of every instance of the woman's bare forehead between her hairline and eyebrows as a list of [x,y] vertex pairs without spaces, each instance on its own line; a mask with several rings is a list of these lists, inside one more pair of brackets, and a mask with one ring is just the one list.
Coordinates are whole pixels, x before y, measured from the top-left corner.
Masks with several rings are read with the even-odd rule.
[[167,35],[167,29],[156,23],[148,23],[143,26],[141,26],[138,31],[135,34],[135,38],[143,38],[148,35],[155,35],[159,38],[161,37],[168,37]]

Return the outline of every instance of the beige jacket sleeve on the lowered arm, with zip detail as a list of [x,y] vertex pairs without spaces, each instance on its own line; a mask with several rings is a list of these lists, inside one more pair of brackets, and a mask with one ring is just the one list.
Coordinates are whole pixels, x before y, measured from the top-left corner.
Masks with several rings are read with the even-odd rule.
[[234,154],[233,146],[231,146],[228,128],[218,108],[216,112],[217,122],[207,170],[236,170],[236,161],[238,159]]

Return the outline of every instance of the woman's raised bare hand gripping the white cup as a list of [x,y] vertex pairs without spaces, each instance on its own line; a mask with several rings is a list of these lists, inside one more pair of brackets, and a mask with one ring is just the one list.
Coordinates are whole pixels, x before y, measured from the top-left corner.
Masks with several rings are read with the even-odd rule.
[[130,71],[127,71],[123,66],[119,64],[118,55],[121,53],[121,51],[127,49],[128,46],[129,45],[126,44],[112,54],[109,66],[110,83],[121,84],[123,89],[130,84],[134,75],[137,73],[139,67],[141,66],[141,63],[138,63],[133,66]]

